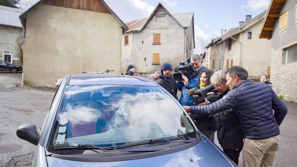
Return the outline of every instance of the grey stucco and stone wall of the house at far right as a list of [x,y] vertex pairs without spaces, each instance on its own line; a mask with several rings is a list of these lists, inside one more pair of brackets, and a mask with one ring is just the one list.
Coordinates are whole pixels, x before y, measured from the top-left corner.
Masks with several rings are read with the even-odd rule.
[[297,102],[297,63],[286,65],[286,48],[290,43],[297,43],[297,25],[295,24],[296,1],[286,1],[279,14],[287,13],[287,29],[279,33],[279,18],[274,24],[271,48],[271,75],[270,81],[277,95],[285,100]]

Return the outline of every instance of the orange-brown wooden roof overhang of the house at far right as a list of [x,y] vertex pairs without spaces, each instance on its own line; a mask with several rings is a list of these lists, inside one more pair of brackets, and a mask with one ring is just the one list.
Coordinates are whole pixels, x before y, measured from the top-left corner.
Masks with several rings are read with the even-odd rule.
[[270,6],[263,21],[259,38],[271,38],[275,22],[279,18],[279,12],[286,0],[271,0]]

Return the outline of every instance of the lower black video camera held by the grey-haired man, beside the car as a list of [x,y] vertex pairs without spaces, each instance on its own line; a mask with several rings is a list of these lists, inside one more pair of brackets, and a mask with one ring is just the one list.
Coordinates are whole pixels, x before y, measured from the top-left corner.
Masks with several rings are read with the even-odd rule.
[[[205,102],[205,98],[207,98],[207,100],[210,103],[213,103],[217,100],[219,100],[221,98],[220,94],[218,93],[218,91],[213,89],[214,86],[213,85],[208,85],[205,88],[196,88],[195,93],[193,94],[193,101],[194,101],[194,105],[198,105],[200,103]],[[213,95],[206,95],[208,92],[215,92],[215,94]]]

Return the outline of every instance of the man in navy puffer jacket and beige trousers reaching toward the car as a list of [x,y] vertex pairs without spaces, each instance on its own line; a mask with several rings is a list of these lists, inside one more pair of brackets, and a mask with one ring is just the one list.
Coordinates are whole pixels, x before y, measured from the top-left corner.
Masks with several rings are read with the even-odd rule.
[[244,131],[243,167],[274,166],[280,141],[279,125],[287,107],[269,85],[247,80],[247,76],[244,68],[232,66],[226,75],[226,85],[231,90],[223,98],[184,109],[192,114],[211,115],[233,108]]

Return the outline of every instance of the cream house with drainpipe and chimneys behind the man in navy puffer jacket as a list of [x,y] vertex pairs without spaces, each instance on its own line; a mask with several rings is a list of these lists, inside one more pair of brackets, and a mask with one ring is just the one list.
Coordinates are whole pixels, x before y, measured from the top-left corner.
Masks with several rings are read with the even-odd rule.
[[[265,18],[266,11],[245,21],[239,27],[225,31],[221,37],[215,38],[206,48],[205,63],[214,72],[241,66],[249,72],[249,79],[259,81],[261,75],[267,74],[270,68],[271,40],[259,39],[257,36]],[[209,49],[211,47],[211,50]]]

